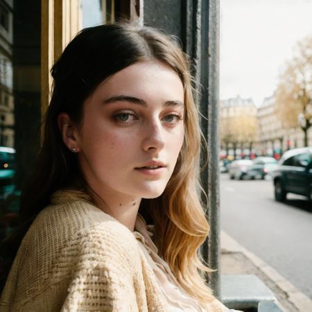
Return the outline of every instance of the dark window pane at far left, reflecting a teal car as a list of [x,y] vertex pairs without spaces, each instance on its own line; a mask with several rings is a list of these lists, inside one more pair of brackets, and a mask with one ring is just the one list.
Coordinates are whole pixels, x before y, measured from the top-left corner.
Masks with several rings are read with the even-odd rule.
[[40,0],[0,0],[0,239],[39,151]]

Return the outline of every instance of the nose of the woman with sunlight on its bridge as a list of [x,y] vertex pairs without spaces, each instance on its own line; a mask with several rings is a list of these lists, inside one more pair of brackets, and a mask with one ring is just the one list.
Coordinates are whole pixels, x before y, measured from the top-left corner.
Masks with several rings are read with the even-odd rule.
[[144,128],[143,149],[146,152],[161,150],[164,143],[164,129],[161,121],[149,122]]

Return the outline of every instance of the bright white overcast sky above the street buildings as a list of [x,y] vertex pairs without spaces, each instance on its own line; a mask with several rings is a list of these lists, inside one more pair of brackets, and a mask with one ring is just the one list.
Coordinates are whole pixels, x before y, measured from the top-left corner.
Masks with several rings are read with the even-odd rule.
[[282,65],[312,35],[312,0],[220,0],[220,99],[261,105]]

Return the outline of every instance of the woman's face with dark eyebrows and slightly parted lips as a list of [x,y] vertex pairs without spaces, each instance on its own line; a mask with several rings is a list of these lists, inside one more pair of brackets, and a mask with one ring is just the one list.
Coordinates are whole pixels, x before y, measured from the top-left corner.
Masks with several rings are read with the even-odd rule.
[[77,139],[89,185],[104,193],[160,196],[182,147],[183,114],[182,82],[161,62],[137,62],[101,83],[84,103]]

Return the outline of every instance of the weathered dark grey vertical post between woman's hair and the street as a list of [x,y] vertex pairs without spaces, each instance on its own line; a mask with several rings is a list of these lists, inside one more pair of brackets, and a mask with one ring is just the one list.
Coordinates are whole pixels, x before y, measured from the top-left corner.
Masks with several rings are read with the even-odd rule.
[[220,197],[219,197],[219,0],[202,0],[201,8],[201,55],[200,85],[202,96],[200,110],[207,119],[202,119],[202,131],[209,146],[208,168],[202,172],[202,184],[208,191],[208,220],[211,226],[209,239],[202,246],[202,256],[210,268],[209,284],[215,295],[220,295]]

